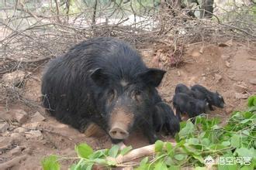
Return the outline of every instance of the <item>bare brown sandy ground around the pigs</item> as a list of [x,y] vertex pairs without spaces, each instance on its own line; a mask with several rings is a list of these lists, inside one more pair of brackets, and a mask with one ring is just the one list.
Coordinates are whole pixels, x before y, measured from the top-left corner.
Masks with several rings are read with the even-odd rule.
[[[178,68],[164,66],[167,74],[158,88],[161,97],[171,105],[175,85],[185,83],[192,86],[200,83],[210,90],[217,90],[226,101],[226,107],[216,109],[213,116],[228,117],[232,110],[243,109],[246,105],[242,96],[256,93],[256,45],[243,42],[228,42],[229,46],[220,47],[215,44],[197,43],[185,48],[182,56],[185,63]],[[150,49],[142,51],[144,61],[152,65]],[[43,68],[42,68],[43,69]],[[26,80],[23,97],[40,104],[41,70],[33,73]],[[240,87],[237,87],[237,84]],[[41,169],[41,159],[50,154],[65,157],[74,156],[74,145],[87,142],[94,149],[109,148],[111,143],[106,135],[95,138],[85,138],[74,128],[61,124],[50,117],[42,107],[28,107],[25,104],[0,105],[0,120],[6,115],[12,115],[17,110],[24,110],[27,119],[21,123],[1,121],[9,124],[7,131],[0,133],[0,169]],[[33,119],[38,111],[44,121]],[[163,140],[173,141],[171,137],[161,137]],[[134,132],[126,141],[126,145],[139,148],[147,145],[147,139],[140,133]],[[62,169],[67,169],[71,161],[62,161]]]

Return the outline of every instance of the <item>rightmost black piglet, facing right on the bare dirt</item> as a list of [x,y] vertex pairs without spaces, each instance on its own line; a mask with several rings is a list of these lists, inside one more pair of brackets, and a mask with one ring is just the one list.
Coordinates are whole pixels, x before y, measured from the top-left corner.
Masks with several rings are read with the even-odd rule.
[[206,87],[202,87],[199,84],[195,84],[191,87],[191,90],[195,93],[202,93],[203,97],[201,99],[206,99],[206,101],[209,103],[209,109],[214,110],[213,106],[223,108],[225,101],[223,97],[216,91],[216,93],[207,90]]

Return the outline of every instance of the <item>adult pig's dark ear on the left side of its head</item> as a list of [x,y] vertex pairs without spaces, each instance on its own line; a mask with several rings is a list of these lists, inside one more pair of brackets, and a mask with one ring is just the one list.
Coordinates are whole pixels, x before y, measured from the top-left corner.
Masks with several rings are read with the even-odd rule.
[[105,73],[103,73],[103,70],[100,68],[92,70],[90,76],[99,87],[103,87],[104,85],[106,85],[108,80],[108,76]]

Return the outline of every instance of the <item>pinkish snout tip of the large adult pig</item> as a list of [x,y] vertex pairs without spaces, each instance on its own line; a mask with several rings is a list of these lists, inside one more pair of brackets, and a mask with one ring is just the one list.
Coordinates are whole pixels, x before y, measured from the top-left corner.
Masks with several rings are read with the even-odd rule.
[[112,128],[109,131],[109,135],[114,139],[125,139],[129,136],[129,132],[126,131],[125,124],[116,123],[112,125]]

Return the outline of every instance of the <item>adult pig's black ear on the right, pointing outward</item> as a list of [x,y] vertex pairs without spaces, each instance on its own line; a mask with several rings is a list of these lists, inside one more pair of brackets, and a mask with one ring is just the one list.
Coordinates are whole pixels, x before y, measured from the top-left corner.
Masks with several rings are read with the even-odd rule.
[[159,69],[149,69],[144,73],[140,73],[138,76],[144,83],[150,84],[153,87],[157,87],[164,77],[166,71]]

